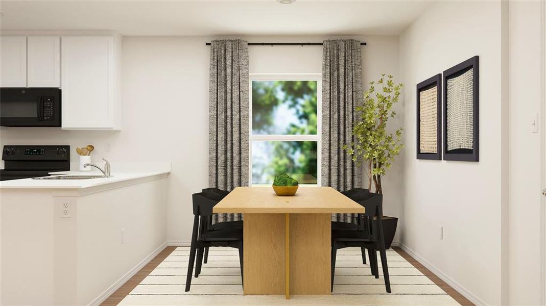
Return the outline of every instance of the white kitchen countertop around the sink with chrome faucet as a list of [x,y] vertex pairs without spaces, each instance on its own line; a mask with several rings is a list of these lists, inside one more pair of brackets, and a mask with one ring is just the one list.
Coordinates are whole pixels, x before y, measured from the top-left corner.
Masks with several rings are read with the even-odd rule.
[[[100,185],[129,181],[131,179],[139,179],[151,176],[159,176],[170,173],[170,163],[161,164],[135,164],[130,165],[130,169],[141,169],[138,171],[124,171],[128,167],[116,165],[117,169],[122,171],[112,171],[110,177],[90,178],[90,179],[13,179],[11,181],[1,181],[0,189],[82,189],[96,187]],[[114,167],[112,167],[114,168]],[[50,175],[100,175],[100,171],[63,171],[50,172]]]

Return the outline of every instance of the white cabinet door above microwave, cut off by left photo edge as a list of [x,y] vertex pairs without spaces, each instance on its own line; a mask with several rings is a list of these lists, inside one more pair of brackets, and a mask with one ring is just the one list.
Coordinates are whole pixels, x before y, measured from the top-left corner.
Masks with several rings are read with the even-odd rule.
[[0,37],[0,87],[27,87],[27,38]]

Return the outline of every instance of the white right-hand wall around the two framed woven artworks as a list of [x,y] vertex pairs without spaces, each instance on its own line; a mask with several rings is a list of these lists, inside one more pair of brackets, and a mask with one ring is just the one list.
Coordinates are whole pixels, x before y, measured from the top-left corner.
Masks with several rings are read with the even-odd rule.
[[[488,305],[505,302],[501,279],[507,272],[501,252],[502,34],[500,1],[440,2],[400,38],[406,85],[401,241],[474,303]],[[474,55],[480,57],[479,163],[417,160],[417,83]]]

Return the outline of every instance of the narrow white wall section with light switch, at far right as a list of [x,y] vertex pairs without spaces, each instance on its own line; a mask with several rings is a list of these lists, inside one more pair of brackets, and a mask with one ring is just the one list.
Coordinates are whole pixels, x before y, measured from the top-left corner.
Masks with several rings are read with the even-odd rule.
[[[541,303],[541,3],[510,2],[510,290],[511,305]],[[544,84],[542,84],[544,86]]]

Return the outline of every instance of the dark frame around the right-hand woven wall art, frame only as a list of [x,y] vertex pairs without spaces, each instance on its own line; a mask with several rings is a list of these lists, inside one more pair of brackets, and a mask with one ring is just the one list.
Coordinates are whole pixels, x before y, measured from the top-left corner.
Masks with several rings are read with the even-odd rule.
[[[472,69],[472,148],[448,150],[448,80]],[[443,159],[479,161],[479,56],[474,56],[443,72]]]

